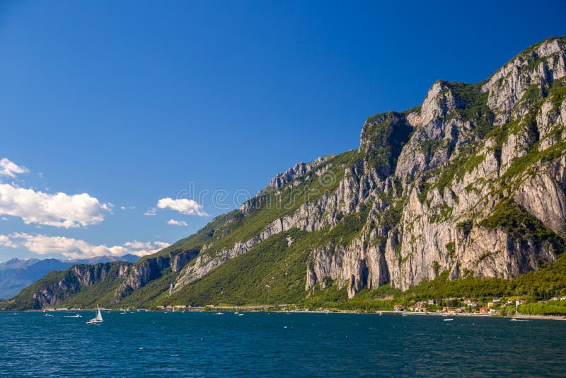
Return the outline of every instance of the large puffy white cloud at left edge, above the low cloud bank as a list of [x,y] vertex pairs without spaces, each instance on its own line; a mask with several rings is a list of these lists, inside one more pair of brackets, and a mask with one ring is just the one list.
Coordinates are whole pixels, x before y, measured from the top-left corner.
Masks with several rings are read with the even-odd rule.
[[25,224],[80,227],[97,224],[111,212],[112,204],[98,202],[87,193],[44,193],[0,184],[0,214],[20,217]]

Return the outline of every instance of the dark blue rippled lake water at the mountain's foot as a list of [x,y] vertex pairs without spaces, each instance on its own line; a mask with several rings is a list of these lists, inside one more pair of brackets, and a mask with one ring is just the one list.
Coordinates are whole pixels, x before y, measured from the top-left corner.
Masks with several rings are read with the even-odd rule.
[[566,321],[441,316],[0,312],[6,376],[561,376]]

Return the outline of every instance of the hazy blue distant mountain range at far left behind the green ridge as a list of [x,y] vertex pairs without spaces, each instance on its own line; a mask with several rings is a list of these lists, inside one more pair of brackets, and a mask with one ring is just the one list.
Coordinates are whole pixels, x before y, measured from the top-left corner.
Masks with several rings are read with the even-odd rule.
[[57,258],[28,258],[21,260],[13,258],[0,263],[0,299],[15,297],[24,287],[47,275],[53,270],[65,270],[76,264],[109,263],[110,261],[127,261],[134,263],[139,256],[127,254],[124,256],[97,256],[74,260],[57,260]]

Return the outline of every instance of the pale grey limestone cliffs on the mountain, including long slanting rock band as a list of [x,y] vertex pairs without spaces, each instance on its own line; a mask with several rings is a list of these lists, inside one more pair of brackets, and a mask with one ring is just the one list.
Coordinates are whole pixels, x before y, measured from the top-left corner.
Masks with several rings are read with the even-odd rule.
[[[555,260],[560,251],[540,232],[499,227],[497,217],[512,200],[533,227],[566,237],[565,51],[563,38],[546,40],[482,84],[437,81],[419,108],[370,118],[335,189],[228,248],[205,245],[171,292],[274,234],[337,227],[365,207],[352,241],[313,246],[306,290],[330,282],[350,297],[390,282],[406,290],[444,272],[511,278]],[[296,164],[267,188],[285,193],[333,167],[332,157]],[[242,217],[265,206],[261,195]]]

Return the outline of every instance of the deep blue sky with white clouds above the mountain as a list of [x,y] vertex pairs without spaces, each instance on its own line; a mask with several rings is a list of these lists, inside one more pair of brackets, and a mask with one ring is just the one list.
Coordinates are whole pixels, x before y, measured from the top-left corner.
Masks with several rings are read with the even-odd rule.
[[[437,79],[480,81],[566,34],[566,3],[536,8],[1,1],[0,261],[192,234],[227,210],[216,190],[233,208],[237,190],[357,148],[367,117],[418,105]],[[191,185],[202,203],[173,201]]]

